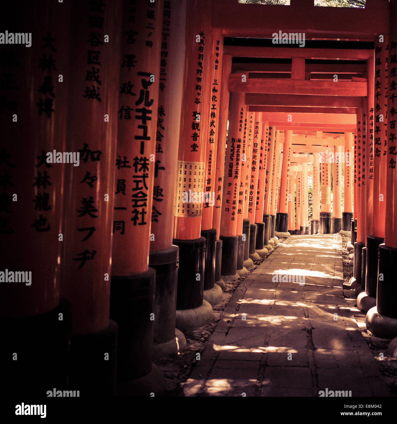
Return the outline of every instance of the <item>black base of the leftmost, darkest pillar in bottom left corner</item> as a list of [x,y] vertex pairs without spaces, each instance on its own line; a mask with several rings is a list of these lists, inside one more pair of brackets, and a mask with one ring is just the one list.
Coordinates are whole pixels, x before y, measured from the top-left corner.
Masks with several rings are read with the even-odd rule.
[[[22,399],[21,396],[32,398],[34,395],[43,398],[48,390],[68,388],[71,332],[68,301],[62,300],[58,307],[34,317],[1,319],[0,326],[1,382],[9,395],[18,399]],[[98,374],[101,371],[99,370]],[[109,384],[111,387],[105,387],[109,379],[101,387],[103,393],[114,394],[115,371],[114,381]],[[107,376],[100,377],[106,379]],[[69,387],[72,390],[82,389],[79,385],[69,384]]]

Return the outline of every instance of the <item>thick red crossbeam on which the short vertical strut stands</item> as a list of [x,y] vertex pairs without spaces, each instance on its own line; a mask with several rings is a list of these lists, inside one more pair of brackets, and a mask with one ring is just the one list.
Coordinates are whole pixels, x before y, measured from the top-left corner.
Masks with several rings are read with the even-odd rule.
[[240,74],[230,74],[228,88],[230,92],[244,93],[364,97],[367,92],[367,83],[271,78],[248,78],[246,82],[242,82]]

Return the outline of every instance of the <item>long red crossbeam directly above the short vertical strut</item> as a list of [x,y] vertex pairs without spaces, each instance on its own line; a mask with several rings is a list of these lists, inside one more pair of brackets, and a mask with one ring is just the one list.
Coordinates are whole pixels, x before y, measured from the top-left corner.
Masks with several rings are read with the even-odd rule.
[[[275,45],[276,46],[276,45]],[[300,47],[251,47],[251,46],[224,46],[223,53],[233,57],[260,57],[291,59],[304,57],[305,59],[342,59],[366,60],[373,56],[374,50],[363,49],[322,49]]]

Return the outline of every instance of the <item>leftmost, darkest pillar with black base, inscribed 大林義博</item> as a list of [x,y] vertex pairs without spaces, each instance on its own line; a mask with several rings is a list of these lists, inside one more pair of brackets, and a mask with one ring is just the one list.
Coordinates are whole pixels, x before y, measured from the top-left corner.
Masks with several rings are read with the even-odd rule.
[[79,153],[65,156],[70,7],[64,6],[15,3],[6,29],[23,28],[31,46],[1,46],[0,360],[2,384],[19,398],[67,388],[64,169],[79,163]]

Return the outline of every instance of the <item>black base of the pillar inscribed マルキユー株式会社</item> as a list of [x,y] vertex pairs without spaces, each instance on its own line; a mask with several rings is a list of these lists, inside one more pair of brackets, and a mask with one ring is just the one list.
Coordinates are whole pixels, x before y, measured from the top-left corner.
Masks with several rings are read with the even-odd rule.
[[[110,317],[119,326],[117,382],[129,382],[152,371],[155,270],[135,276],[112,276]],[[133,314],[133,315],[131,315]],[[175,329],[175,326],[174,326]]]

